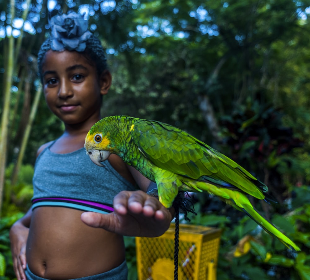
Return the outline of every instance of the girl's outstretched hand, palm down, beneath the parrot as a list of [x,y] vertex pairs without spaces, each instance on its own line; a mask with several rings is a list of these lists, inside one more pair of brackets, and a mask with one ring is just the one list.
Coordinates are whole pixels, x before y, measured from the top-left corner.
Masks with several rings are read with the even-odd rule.
[[143,191],[122,191],[114,197],[114,212],[84,212],[81,219],[93,227],[126,236],[156,237],[162,235],[174,217],[157,198]]

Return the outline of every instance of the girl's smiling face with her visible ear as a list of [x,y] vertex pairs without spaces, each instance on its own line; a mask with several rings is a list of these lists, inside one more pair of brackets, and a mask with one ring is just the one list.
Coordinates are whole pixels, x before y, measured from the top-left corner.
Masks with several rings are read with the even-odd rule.
[[47,106],[65,124],[92,125],[100,119],[101,95],[111,85],[108,71],[98,77],[95,66],[78,52],[49,50],[42,72]]

